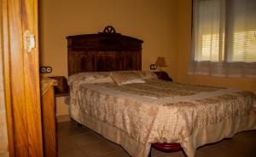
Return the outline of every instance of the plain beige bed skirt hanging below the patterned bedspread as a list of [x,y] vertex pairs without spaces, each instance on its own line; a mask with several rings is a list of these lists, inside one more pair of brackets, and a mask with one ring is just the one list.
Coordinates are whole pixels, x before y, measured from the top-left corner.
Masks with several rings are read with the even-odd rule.
[[[151,143],[139,143],[127,136],[127,134],[119,128],[102,122],[85,113],[79,113],[83,114],[79,116],[81,118],[73,116],[72,113],[70,113],[70,116],[79,124],[85,125],[92,131],[101,134],[102,137],[121,145],[131,156],[148,157]],[[236,133],[241,131],[256,130],[255,119],[255,114],[249,114],[247,116],[237,116],[232,119],[226,119],[222,123],[207,125],[207,127],[198,127],[195,128],[191,136],[183,138],[179,143],[188,157],[194,157],[196,148],[204,144],[218,142],[224,138],[233,137]],[[199,135],[201,138],[198,138]]]

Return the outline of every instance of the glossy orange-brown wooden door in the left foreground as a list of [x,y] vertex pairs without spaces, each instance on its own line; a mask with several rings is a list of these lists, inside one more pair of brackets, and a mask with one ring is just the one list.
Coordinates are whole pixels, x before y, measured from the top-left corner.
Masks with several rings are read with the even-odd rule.
[[1,0],[0,3],[9,154],[41,157],[38,0]]

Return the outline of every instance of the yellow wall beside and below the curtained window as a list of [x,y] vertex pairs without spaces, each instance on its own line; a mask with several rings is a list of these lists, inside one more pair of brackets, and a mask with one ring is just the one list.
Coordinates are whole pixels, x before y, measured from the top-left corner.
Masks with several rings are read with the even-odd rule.
[[189,75],[191,49],[192,0],[178,1],[178,49],[177,49],[177,82],[189,84],[206,84],[251,90],[256,94],[256,78],[218,78],[203,75]]

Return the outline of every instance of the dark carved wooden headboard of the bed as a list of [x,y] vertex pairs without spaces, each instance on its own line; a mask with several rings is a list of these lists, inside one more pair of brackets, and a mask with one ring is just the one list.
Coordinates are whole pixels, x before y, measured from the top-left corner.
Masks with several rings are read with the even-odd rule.
[[67,37],[68,75],[142,69],[142,44],[115,32]]

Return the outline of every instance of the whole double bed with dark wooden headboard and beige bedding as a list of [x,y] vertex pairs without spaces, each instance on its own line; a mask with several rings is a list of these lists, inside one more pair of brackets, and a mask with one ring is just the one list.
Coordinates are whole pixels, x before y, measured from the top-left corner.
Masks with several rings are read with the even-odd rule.
[[103,32],[67,43],[71,118],[131,156],[166,142],[193,157],[201,145],[256,129],[252,92],[160,80],[141,71],[142,40]]

